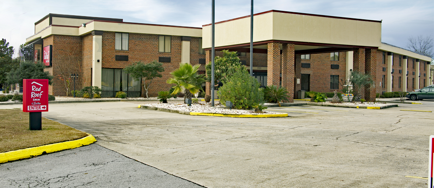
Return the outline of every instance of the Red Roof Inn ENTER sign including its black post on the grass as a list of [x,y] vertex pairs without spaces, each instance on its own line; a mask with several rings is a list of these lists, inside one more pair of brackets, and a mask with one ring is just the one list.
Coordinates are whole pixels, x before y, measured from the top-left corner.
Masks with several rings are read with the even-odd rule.
[[23,79],[23,112],[30,112],[30,130],[42,130],[41,112],[48,112],[48,79]]

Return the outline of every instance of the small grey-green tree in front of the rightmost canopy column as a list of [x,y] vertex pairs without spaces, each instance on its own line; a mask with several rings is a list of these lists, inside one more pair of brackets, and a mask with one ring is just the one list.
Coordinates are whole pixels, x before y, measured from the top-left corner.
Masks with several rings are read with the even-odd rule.
[[357,71],[350,71],[349,79],[355,87],[355,90],[353,89],[353,92],[355,91],[354,99],[353,101],[360,101],[362,99],[362,87],[368,87],[368,89],[371,89],[375,87],[375,82],[372,80],[372,76],[369,74],[360,73]]

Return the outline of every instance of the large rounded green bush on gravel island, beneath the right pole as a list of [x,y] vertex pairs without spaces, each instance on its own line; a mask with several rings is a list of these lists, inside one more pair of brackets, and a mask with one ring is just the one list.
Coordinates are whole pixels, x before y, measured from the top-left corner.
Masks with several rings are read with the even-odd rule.
[[236,109],[250,109],[263,103],[263,91],[258,80],[251,77],[246,67],[239,67],[233,76],[220,87],[217,95],[220,101],[230,101]]

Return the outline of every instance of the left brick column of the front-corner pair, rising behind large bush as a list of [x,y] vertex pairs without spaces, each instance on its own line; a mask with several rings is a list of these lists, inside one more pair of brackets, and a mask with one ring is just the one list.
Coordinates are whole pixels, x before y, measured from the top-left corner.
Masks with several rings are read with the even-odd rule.
[[267,51],[267,86],[280,85],[280,46],[268,43]]

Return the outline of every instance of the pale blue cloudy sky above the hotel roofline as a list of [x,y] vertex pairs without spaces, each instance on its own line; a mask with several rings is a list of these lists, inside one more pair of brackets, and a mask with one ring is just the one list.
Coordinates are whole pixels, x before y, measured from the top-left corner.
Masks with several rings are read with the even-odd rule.
[[[254,0],[253,13],[268,10],[382,20],[381,41],[402,48],[410,36],[434,37],[433,0]],[[211,0],[0,0],[0,38],[14,56],[49,13],[202,27],[211,23]],[[215,0],[216,22],[247,15],[250,0]]]

